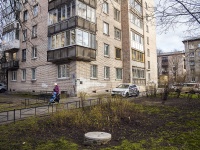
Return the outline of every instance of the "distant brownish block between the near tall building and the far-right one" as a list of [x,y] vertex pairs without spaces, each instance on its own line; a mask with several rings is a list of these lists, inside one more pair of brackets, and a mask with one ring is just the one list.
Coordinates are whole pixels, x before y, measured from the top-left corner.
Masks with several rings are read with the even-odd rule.
[[169,84],[185,82],[185,52],[158,53],[158,77],[168,77]]

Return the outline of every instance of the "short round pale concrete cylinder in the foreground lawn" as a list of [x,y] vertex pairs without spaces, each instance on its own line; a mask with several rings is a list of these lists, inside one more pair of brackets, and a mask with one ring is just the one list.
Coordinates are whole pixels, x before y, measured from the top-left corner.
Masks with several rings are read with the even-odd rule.
[[104,145],[111,140],[111,134],[106,132],[88,132],[84,135],[85,145]]

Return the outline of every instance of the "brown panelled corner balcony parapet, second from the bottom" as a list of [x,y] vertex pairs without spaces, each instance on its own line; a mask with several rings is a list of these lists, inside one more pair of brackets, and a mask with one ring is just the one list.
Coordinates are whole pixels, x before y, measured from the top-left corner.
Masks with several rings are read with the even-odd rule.
[[82,29],[91,31],[93,33],[96,32],[96,24],[85,20],[81,17],[75,16],[72,17],[68,20],[53,24],[51,26],[48,27],[48,36],[51,36],[52,34],[56,34],[68,29],[72,29],[75,27],[80,27]]

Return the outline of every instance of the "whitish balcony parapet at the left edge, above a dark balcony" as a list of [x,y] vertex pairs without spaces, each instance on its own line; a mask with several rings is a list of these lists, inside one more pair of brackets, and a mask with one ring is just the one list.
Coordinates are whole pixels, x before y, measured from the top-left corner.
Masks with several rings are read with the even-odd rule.
[[2,42],[2,50],[3,51],[12,51],[17,52],[20,48],[20,42],[19,40],[14,40],[12,42],[4,43]]

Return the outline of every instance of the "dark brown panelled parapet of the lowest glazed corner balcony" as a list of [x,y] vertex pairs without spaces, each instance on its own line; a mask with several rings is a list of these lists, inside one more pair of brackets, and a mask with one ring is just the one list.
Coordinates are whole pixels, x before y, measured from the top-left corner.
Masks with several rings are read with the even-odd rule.
[[53,63],[93,60],[96,60],[96,50],[82,46],[71,46],[47,51],[47,61]]

